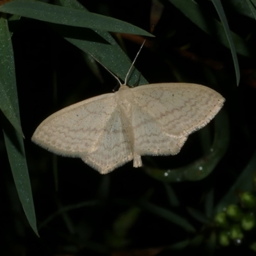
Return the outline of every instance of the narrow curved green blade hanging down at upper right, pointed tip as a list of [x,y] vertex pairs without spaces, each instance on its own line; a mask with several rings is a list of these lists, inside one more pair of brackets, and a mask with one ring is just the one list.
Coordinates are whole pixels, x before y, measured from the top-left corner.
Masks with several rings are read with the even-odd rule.
[[239,65],[238,65],[238,60],[237,60],[237,56],[236,56],[236,49],[235,49],[234,42],[232,40],[230,29],[228,27],[227,18],[226,18],[226,15],[225,15],[225,12],[223,10],[220,0],[212,0],[212,3],[214,4],[214,6],[216,8],[216,11],[218,12],[221,23],[223,24],[223,27],[225,29],[225,33],[226,33],[226,36],[228,39],[228,44],[229,44],[232,58],[234,61],[234,66],[235,66],[235,70],[236,70],[236,81],[237,81],[237,85],[238,85],[239,81],[240,81],[240,71],[239,71]]

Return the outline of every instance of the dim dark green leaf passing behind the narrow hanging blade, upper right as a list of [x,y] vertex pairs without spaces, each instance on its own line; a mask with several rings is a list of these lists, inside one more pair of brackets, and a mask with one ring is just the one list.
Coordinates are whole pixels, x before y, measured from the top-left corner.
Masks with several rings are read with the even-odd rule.
[[[218,22],[218,20],[213,19],[211,15],[205,13],[205,10],[201,8],[199,4],[197,4],[193,0],[169,1],[205,33],[219,40],[219,42],[225,45],[225,47],[230,47],[223,25],[220,22]],[[243,56],[251,57],[251,51],[254,51],[254,49],[248,49],[246,41],[243,38],[241,38],[241,36],[236,35],[236,33],[234,32],[230,33],[236,46],[236,52]]]

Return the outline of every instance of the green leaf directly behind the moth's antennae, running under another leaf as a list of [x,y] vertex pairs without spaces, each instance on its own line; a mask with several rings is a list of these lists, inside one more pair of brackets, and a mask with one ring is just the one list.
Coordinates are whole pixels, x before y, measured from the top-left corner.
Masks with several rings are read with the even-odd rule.
[[[88,12],[84,6],[76,1],[70,2],[61,0],[60,3],[67,4],[69,8],[78,8],[79,10],[84,10],[84,12]],[[51,24],[51,27],[63,36],[65,40],[76,45],[81,51],[93,56],[99,63],[124,81],[127,71],[131,67],[131,60],[129,60],[125,52],[122,51],[120,46],[107,31],[71,28],[57,24]],[[140,72],[138,72],[136,68],[132,68],[131,76],[127,84],[132,85],[137,81],[140,81],[139,84],[148,84],[147,80],[141,76]]]

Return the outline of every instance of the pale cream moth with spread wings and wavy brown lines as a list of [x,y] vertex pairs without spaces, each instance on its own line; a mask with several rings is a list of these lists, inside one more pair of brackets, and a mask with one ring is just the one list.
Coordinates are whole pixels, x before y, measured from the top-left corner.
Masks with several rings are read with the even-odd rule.
[[102,174],[132,159],[140,167],[141,156],[178,154],[189,134],[208,124],[225,102],[220,93],[200,84],[130,88],[131,68],[124,84],[113,75],[120,83],[117,92],[52,114],[37,127],[32,141],[55,154],[80,157]]

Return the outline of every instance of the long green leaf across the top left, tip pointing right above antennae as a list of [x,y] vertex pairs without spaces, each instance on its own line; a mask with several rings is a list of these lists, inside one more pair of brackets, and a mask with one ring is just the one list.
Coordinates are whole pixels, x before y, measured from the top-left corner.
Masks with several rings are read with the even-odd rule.
[[147,31],[122,20],[39,1],[13,0],[0,6],[0,12],[67,26],[101,29],[132,35],[152,36]]

